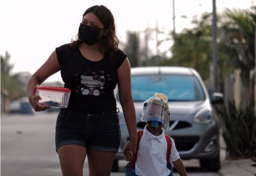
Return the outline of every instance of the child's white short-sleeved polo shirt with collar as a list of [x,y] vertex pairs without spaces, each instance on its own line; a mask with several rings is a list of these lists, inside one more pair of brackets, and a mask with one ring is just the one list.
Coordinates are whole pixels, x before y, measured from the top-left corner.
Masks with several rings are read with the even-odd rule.
[[[171,137],[170,137],[171,138]],[[177,161],[179,153],[171,138],[170,161]],[[139,142],[137,159],[135,162],[135,173],[139,176],[168,176],[171,171],[166,166],[167,142],[164,130],[160,136],[154,136],[147,131],[146,126]]]

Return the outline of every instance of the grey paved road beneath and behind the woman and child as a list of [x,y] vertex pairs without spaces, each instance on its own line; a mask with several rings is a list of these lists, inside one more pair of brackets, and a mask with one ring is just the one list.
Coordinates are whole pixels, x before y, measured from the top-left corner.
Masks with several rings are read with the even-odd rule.
[[[61,176],[54,142],[56,118],[57,113],[45,112],[1,114],[1,176]],[[127,162],[118,164],[119,172],[111,176],[124,176]],[[200,169],[197,160],[184,164],[189,176],[218,176]],[[83,171],[88,176],[87,160]]]

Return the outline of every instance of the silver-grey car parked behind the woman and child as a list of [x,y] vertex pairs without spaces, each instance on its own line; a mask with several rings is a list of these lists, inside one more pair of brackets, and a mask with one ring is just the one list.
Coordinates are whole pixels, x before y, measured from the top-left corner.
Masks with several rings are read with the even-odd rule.
[[[154,92],[165,94],[170,111],[170,131],[165,133],[174,139],[180,157],[199,159],[202,167],[217,171],[220,168],[219,130],[211,104],[222,103],[223,94],[213,93],[210,99],[198,72],[188,67],[134,67],[131,75],[137,129],[144,129],[146,125],[141,121],[143,102]],[[118,159],[124,159],[122,149],[129,140],[118,89],[115,97],[120,109],[121,144],[113,171],[118,170]]]

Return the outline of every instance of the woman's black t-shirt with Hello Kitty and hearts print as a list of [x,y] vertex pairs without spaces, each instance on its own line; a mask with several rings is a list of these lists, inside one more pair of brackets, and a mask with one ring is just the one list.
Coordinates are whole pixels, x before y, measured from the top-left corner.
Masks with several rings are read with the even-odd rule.
[[104,56],[95,62],[84,58],[79,48],[73,49],[69,44],[57,47],[56,53],[64,87],[71,89],[67,109],[88,112],[116,110],[117,69],[127,54],[118,49],[114,57]]

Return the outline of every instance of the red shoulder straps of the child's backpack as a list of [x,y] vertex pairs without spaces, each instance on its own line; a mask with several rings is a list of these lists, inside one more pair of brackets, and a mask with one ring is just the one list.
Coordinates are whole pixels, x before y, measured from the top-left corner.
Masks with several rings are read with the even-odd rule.
[[[134,166],[135,166],[135,162],[136,162],[136,159],[137,159],[137,153],[138,153],[138,149],[139,149],[139,142],[141,141],[141,137],[143,135],[143,130],[139,130],[137,131],[137,134],[138,134],[138,140],[137,140],[137,151],[135,153],[135,156],[134,158],[132,159],[131,161],[131,170],[134,169]],[[171,138],[170,136],[164,134],[165,138],[166,138],[166,142],[167,142],[167,152],[166,152],[166,163],[167,165],[170,163],[170,155],[171,155]]]

